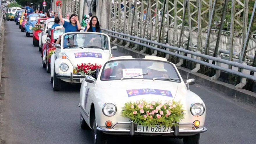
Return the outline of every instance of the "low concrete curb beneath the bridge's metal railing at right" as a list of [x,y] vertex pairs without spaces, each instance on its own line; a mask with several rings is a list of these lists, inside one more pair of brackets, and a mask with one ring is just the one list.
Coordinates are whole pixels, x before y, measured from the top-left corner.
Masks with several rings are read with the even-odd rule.
[[[139,51],[132,50],[130,48],[120,46],[114,43],[111,43],[111,46],[117,46],[118,51],[123,52],[127,55],[131,55],[134,58],[144,58],[148,54],[140,53]],[[251,92],[249,90],[244,89],[236,89],[234,85],[224,83],[221,81],[212,81],[210,77],[200,74],[200,73],[192,73],[191,70],[184,68],[184,67],[177,67],[179,70],[179,73],[182,75],[182,77],[186,78],[186,72],[188,72],[189,78],[195,79],[195,82],[207,86],[213,90],[217,90],[220,93],[224,93],[225,95],[232,97],[239,102],[244,102],[247,104],[252,104],[256,106],[256,93]]]

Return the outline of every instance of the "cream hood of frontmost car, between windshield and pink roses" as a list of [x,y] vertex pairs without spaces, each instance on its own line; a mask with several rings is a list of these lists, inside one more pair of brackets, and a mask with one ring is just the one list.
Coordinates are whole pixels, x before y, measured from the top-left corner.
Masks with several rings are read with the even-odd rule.
[[[102,83],[99,87],[102,88],[104,93],[108,95],[107,99],[114,100],[115,103],[124,104],[125,102],[136,102],[137,100],[144,99],[145,101],[162,101],[165,100],[173,100],[176,95],[186,95],[186,89],[184,90],[183,83],[175,83],[175,82],[166,82],[166,81],[151,81],[151,80],[144,80],[144,81],[134,81],[131,80],[118,80],[112,81],[111,83]],[[135,93],[138,89],[155,89],[157,90],[157,94],[132,94],[134,90]],[[162,93],[161,93],[161,90]],[[142,90],[139,90],[142,91]],[[166,95],[166,91],[169,91],[171,95]],[[168,92],[167,92],[168,93]],[[176,99],[181,99],[175,98]]]

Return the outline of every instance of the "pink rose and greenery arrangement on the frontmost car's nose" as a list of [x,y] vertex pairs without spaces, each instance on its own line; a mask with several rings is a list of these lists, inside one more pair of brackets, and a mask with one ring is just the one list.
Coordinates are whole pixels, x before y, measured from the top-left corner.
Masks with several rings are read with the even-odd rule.
[[137,100],[127,102],[123,107],[122,116],[129,118],[138,125],[165,125],[173,126],[175,122],[184,119],[182,104],[175,101],[146,102]]

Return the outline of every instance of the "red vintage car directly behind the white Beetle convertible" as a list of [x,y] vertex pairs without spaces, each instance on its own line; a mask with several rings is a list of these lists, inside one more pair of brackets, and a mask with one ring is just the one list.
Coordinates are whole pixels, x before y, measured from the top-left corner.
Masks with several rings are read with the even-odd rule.
[[47,58],[49,52],[51,50],[55,50],[54,41],[58,39],[59,35],[65,33],[65,28],[63,26],[57,26],[55,29],[51,29],[51,32],[48,33],[48,37],[46,38],[46,43],[43,45],[42,48],[42,66],[46,68],[46,71],[49,73],[51,72],[51,58]]

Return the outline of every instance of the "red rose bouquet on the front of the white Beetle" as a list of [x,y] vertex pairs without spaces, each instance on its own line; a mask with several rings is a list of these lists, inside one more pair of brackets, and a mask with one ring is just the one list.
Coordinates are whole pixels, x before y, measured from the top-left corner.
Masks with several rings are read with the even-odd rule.
[[81,65],[77,65],[77,67],[73,70],[74,74],[80,74],[83,76],[89,75],[91,76],[92,74],[95,74],[96,69],[99,68],[101,69],[101,65],[91,64],[91,63],[82,63]]

